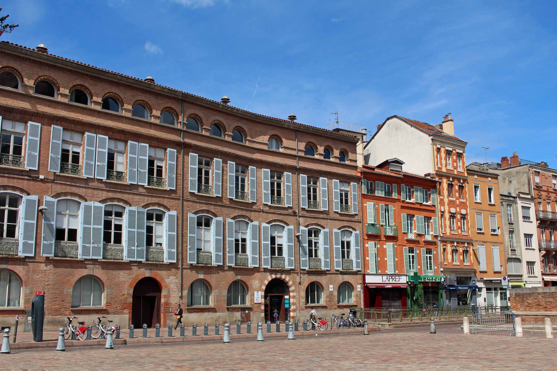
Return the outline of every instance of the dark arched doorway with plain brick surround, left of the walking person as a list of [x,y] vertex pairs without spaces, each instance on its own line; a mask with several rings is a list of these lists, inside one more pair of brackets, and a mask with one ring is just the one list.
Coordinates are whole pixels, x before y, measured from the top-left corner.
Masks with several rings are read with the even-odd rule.
[[160,320],[160,285],[157,280],[145,277],[134,286],[131,296],[131,324],[135,328],[155,327]]

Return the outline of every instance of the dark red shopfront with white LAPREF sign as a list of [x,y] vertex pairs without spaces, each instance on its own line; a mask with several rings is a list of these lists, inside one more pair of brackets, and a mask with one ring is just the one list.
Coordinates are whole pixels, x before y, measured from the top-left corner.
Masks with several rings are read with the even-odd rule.
[[405,275],[365,274],[364,306],[375,309],[407,308],[408,283]]

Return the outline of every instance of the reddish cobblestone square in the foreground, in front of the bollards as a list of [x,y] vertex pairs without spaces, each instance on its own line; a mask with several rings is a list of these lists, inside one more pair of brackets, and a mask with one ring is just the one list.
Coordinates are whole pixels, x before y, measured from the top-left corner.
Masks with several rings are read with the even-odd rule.
[[317,335],[257,343],[124,345],[114,350],[21,350],[0,369],[50,370],[557,370],[557,339],[463,335],[455,326],[385,330],[369,336]]

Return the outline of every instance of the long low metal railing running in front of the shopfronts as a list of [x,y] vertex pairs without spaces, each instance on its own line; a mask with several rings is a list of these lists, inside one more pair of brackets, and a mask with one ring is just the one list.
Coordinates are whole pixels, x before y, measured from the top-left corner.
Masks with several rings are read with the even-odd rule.
[[508,306],[495,305],[460,305],[445,306],[443,308],[406,308],[406,309],[368,309],[358,308],[356,313],[362,321],[367,319],[372,322],[412,322],[431,320],[448,320],[462,317],[470,317],[475,314],[499,313],[509,310]]

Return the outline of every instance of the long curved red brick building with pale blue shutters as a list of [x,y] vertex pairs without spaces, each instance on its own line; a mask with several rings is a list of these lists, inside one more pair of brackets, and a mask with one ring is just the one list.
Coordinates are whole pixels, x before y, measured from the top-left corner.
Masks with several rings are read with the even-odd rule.
[[37,290],[47,329],[361,305],[355,137],[44,46],[0,61],[1,325]]

